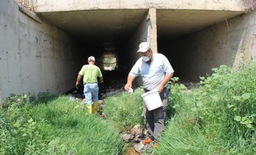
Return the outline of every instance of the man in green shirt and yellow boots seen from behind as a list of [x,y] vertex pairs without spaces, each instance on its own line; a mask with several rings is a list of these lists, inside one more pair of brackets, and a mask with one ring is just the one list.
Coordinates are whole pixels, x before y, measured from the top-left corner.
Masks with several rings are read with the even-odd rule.
[[98,80],[99,82],[103,83],[103,78],[101,74],[101,70],[99,67],[95,66],[95,58],[89,57],[88,58],[88,65],[84,65],[80,72],[78,73],[77,80],[75,87],[80,83],[80,79],[82,76],[84,82],[84,94],[85,94],[85,103],[88,108],[88,113],[91,114],[92,112],[97,112],[99,110],[99,87],[98,87]]

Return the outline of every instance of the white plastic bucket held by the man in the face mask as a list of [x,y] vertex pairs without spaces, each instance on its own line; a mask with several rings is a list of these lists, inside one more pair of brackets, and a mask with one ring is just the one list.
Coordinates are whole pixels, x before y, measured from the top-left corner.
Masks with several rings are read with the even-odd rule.
[[163,106],[157,88],[142,94],[141,97],[143,98],[143,101],[149,111]]

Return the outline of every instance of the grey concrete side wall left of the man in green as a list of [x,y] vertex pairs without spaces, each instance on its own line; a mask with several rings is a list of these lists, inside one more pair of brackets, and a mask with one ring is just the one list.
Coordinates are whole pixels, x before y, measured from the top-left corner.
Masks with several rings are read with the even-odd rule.
[[75,41],[59,28],[32,20],[15,0],[0,1],[0,90],[64,93],[74,87],[79,63]]

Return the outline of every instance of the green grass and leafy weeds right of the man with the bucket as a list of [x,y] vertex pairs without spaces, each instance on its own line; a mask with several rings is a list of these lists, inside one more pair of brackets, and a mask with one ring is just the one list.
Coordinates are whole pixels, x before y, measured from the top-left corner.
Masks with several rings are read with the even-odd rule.
[[239,72],[220,66],[208,78],[201,77],[198,88],[174,93],[176,114],[169,119],[155,154],[255,154],[255,77],[255,64]]

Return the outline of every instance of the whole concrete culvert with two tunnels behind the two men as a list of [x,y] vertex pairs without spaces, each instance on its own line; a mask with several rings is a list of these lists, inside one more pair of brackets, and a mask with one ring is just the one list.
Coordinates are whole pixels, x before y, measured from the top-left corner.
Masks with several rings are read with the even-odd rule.
[[114,56],[115,72],[127,76],[143,41],[163,53],[184,80],[198,80],[221,64],[236,65],[240,49],[247,58],[256,55],[256,14],[244,14],[236,0],[33,0],[29,6],[26,11],[15,0],[0,2],[3,98],[65,93],[75,87],[89,56],[101,67],[104,55]]

